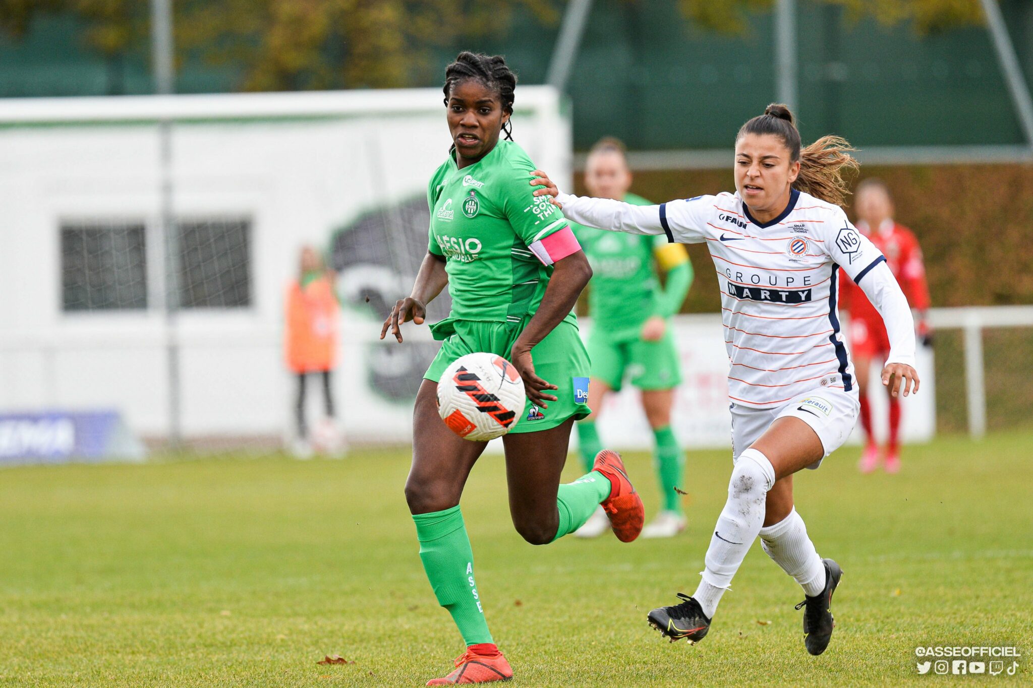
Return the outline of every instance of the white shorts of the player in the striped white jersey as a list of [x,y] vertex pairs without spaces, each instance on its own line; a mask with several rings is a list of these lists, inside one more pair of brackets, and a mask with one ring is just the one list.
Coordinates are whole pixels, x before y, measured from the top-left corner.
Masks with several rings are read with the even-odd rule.
[[824,456],[807,466],[817,468],[825,456],[842,447],[850,436],[853,426],[857,424],[860,402],[855,393],[817,387],[774,408],[753,408],[738,403],[731,404],[730,408],[732,462],[771,427],[775,419],[792,416],[810,425],[821,440]]

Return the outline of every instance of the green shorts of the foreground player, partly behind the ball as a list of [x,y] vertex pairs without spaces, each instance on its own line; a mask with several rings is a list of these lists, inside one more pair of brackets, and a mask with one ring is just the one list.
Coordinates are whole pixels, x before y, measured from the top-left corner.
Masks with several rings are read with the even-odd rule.
[[[435,339],[443,339],[438,355],[424,378],[438,382],[452,361],[465,354],[487,351],[506,359],[530,316],[519,323],[443,320],[431,327]],[[524,413],[509,432],[538,432],[562,425],[567,419],[588,417],[589,360],[575,322],[564,320],[531,350],[534,371],[545,382],[559,387],[552,390],[557,401],[540,408],[525,399]]]

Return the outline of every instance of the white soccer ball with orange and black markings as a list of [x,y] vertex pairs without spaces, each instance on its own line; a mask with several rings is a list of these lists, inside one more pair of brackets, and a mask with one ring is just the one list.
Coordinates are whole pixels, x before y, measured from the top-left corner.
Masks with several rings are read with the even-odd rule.
[[461,356],[438,381],[438,414],[464,439],[488,441],[513,429],[524,413],[524,380],[495,354]]

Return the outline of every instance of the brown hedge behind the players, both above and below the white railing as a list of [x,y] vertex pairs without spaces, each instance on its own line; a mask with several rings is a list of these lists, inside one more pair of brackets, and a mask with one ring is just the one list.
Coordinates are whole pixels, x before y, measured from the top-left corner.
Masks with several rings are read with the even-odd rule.
[[[732,191],[728,170],[638,172],[633,189],[661,202]],[[933,305],[1033,304],[1033,166],[863,166],[859,178],[886,182],[897,219],[918,236],[926,254]],[[581,178],[577,187],[584,193]],[[852,208],[847,215],[855,219]],[[688,247],[696,279],[683,313],[717,313],[717,273],[705,244]],[[591,287],[590,287],[591,288]],[[983,335],[987,425],[1033,424],[1033,328]],[[962,333],[936,335],[937,425],[968,428]]]

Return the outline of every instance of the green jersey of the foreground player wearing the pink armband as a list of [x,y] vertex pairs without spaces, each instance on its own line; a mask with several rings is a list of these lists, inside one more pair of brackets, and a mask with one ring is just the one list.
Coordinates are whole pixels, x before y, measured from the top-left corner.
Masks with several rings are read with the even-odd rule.
[[431,178],[429,250],[446,259],[449,318],[518,323],[541,302],[553,267],[529,247],[569,223],[550,196],[532,195],[534,169],[523,149],[501,140],[463,169],[449,155]]

